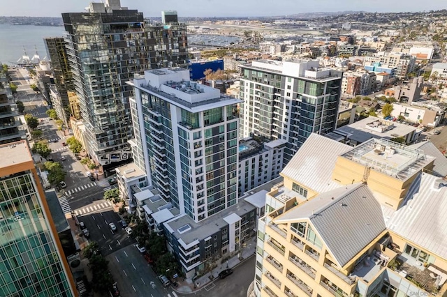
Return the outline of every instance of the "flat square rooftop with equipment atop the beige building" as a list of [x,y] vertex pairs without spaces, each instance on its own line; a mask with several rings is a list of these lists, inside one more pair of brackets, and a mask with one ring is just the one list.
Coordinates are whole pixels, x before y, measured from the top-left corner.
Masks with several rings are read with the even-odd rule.
[[375,138],[343,153],[342,157],[361,165],[367,165],[401,181],[413,176],[434,160],[434,157],[425,155],[423,150]]

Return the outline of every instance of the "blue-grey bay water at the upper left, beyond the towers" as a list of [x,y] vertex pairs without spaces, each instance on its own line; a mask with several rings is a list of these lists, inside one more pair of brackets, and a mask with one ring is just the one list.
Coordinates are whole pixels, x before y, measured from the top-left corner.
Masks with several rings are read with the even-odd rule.
[[47,56],[45,37],[64,36],[64,26],[14,26],[0,24],[0,62],[15,65],[18,59],[27,51],[29,59],[36,54],[43,59]]

